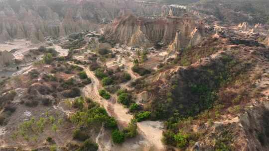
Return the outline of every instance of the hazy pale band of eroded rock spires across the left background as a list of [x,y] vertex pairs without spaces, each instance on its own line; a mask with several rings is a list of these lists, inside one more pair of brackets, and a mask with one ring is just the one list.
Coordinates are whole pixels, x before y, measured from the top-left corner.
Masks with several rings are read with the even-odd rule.
[[161,15],[162,6],[133,0],[3,0],[0,5],[0,42],[27,38],[33,43],[46,36],[65,36],[97,30],[120,15]]

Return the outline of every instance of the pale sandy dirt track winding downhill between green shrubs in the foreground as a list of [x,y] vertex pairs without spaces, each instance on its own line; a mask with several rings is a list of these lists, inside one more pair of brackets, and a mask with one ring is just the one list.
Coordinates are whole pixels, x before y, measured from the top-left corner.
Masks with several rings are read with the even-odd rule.
[[[70,63],[72,64],[72,63]],[[92,83],[85,87],[85,95],[89,98],[99,102],[110,116],[116,118],[121,126],[127,126],[133,116],[128,113],[128,109],[117,103],[115,96],[112,95],[110,100],[105,100],[99,96],[98,90],[102,88],[99,79],[87,67],[73,64],[84,69],[88,77],[91,78]],[[130,68],[131,69],[131,68]],[[133,76],[132,76],[133,77]],[[154,146],[157,151],[164,150],[161,143],[163,125],[159,121],[143,121],[137,123],[138,132],[147,142],[148,146]]]

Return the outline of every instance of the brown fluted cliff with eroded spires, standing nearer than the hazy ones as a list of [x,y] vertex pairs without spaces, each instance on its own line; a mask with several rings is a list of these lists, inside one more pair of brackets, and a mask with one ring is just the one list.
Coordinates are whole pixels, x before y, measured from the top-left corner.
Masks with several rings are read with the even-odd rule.
[[[180,31],[180,32],[179,32]],[[150,46],[158,42],[171,47],[197,45],[203,30],[198,29],[196,19],[188,17],[160,17],[155,20],[133,15],[117,18],[105,30],[109,40],[129,46]]]

